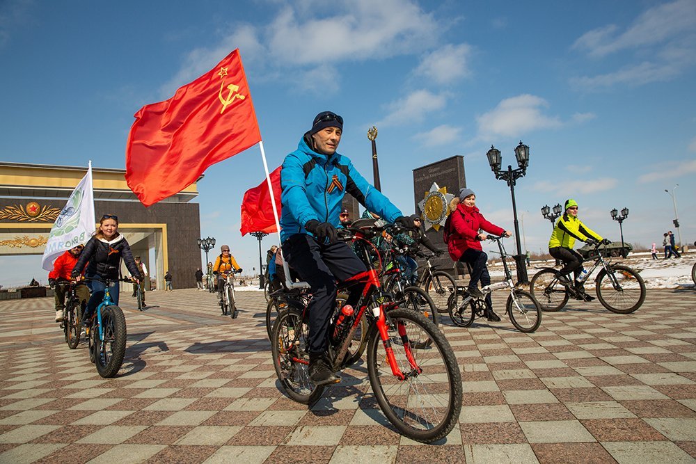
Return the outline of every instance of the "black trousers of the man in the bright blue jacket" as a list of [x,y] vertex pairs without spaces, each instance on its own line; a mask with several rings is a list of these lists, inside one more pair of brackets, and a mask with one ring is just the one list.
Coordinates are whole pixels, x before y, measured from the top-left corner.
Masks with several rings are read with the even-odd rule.
[[[365,264],[345,242],[319,243],[307,234],[294,234],[285,240],[283,258],[311,287],[309,352],[324,353],[329,349],[326,335],[336,302],[336,282],[366,271]],[[347,304],[355,305],[359,298],[359,291],[350,291]]]

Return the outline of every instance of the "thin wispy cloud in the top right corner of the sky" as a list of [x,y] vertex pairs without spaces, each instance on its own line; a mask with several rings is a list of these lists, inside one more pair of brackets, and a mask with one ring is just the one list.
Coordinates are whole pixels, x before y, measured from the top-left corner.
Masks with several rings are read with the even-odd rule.
[[615,25],[603,26],[585,33],[573,45],[590,56],[606,56],[624,49],[634,49],[665,42],[692,33],[696,24],[696,3],[677,0],[646,10],[623,33],[615,34]]

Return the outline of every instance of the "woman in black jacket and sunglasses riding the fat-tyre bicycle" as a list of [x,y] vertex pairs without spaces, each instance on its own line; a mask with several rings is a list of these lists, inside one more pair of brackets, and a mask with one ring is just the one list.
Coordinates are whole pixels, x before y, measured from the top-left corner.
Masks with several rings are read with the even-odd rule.
[[[142,280],[143,276],[138,269],[138,265],[133,259],[128,241],[118,233],[118,217],[113,214],[104,214],[99,221],[99,227],[94,236],[85,245],[80,259],[72,269],[72,277],[77,278],[87,264],[86,277],[98,277],[103,280],[118,280],[121,259],[126,264],[128,271],[136,281]],[[89,262],[89,263],[88,263]],[[99,280],[88,282],[92,290],[92,296],[87,303],[82,321],[88,325],[88,321],[93,311],[104,299],[104,289],[106,284]],[[113,304],[118,305],[118,282],[109,287],[109,294]]]

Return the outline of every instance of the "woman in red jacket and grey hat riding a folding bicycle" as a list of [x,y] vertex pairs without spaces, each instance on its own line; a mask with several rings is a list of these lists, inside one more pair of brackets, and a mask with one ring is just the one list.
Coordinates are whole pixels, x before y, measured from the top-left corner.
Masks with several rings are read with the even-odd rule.
[[[490,285],[491,275],[488,273],[488,255],[484,253],[481,241],[490,234],[510,237],[508,230],[498,227],[483,217],[476,207],[476,195],[471,189],[459,191],[459,205],[452,211],[450,217],[450,231],[448,234],[447,249],[454,261],[464,262],[470,266],[471,278],[469,280],[468,294],[473,298],[482,298],[483,294],[478,288],[478,283]],[[482,230],[483,232],[480,232]],[[500,317],[493,312],[491,294],[486,295],[488,307],[488,320],[498,322]]]

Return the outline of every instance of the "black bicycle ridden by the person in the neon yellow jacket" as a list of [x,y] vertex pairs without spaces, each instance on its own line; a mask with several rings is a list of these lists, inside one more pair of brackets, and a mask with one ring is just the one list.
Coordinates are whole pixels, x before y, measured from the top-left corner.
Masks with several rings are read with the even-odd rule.
[[[606,258],[606,259],[605,259]],[[584,262],[594,261],[587,271],[585,282],[590,282],[590,275],[599,269],[594,279],[594,288],[599,303],[611,312],[628,314],[645,301],[645,283],[638,272],[623,264],[611,262],[606,243],[596,243]],[[571,296],[581,300],[587,299],[583,289],[572,285],[572,275],[564,275],[551,267],[541,268],[530,282],[530,291],[544,311],[559,311],[568,303]]]

